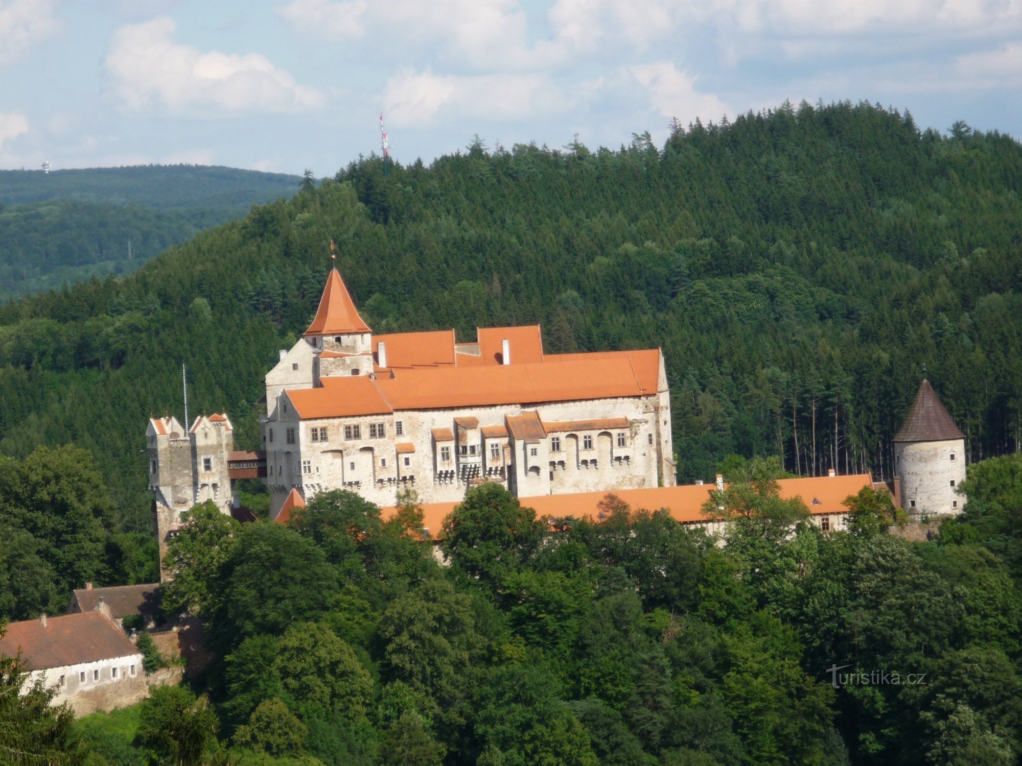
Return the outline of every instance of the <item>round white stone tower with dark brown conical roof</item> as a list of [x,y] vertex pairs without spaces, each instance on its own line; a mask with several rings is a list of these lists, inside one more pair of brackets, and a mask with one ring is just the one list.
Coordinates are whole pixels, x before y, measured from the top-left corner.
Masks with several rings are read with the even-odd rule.
[[965,435],[924,380],[894,435],[894,475],[910,514],[959,514],[965,496]]

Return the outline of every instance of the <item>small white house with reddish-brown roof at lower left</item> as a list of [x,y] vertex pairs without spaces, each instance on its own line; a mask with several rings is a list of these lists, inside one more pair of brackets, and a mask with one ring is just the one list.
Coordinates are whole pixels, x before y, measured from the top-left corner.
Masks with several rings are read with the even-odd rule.
[[102,610],[12,622],[0,655],[20,653],[28,683],[42,678],[75,715],[123,708],[148,697],[142,655]]

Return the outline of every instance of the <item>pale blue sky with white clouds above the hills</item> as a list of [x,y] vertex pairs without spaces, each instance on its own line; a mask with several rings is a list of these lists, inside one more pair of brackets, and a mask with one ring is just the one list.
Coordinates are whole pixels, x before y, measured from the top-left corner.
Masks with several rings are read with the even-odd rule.
[[333,175],[867,100],[1022,137],[1022,0],[0,0],[0,169]]

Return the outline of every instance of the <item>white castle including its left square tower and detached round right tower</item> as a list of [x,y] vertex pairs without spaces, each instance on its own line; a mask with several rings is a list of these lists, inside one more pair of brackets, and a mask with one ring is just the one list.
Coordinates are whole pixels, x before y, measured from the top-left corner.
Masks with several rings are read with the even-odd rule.
[[[193,505],[241,513],[241,478],[265,480],[273,519],[339,488],[382,508],[414,490],[445,508],[481,482],[533,498],[676,484],[659,349],[546,353],[538,325],[479,328],[462,343],[453,330],[374,335],[336,269],[309,329],[267,374],[266,401],[259,451],[234,450],[226,415],[187,433],[172,416],[150,419],[160,556]],[[928,381],[894,442],[895,501],[959,513],[965,437]]]

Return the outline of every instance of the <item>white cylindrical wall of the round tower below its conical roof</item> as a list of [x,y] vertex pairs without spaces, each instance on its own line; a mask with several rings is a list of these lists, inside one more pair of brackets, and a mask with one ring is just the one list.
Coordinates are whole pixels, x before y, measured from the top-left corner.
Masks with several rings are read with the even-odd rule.
[[965,440],[895,442],[894,474],[901,480],[905,512],[960,514],[966,500],[958,491],[965,481]]

